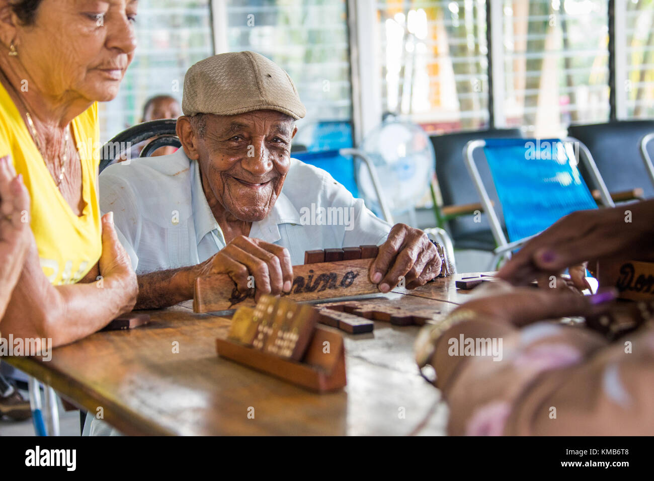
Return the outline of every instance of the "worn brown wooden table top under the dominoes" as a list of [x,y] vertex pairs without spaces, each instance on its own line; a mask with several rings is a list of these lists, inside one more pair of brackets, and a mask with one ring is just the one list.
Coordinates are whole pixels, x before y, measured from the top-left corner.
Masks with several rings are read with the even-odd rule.
[[[436,279],[373,302],[445,315],[466,295],[454,279]],[[215,338],[226,336],[227,317],[193,313],[188,303],[149,313],[145,327],[97,332],[54,349],[49,362],[3,361],[92,414],[101,407],[105,421],[127,435],[445,433],[447,408],[413,359],[419,327],[375,322],[370,334],[344,334],[347,387],[318,395],[220,359]]]

